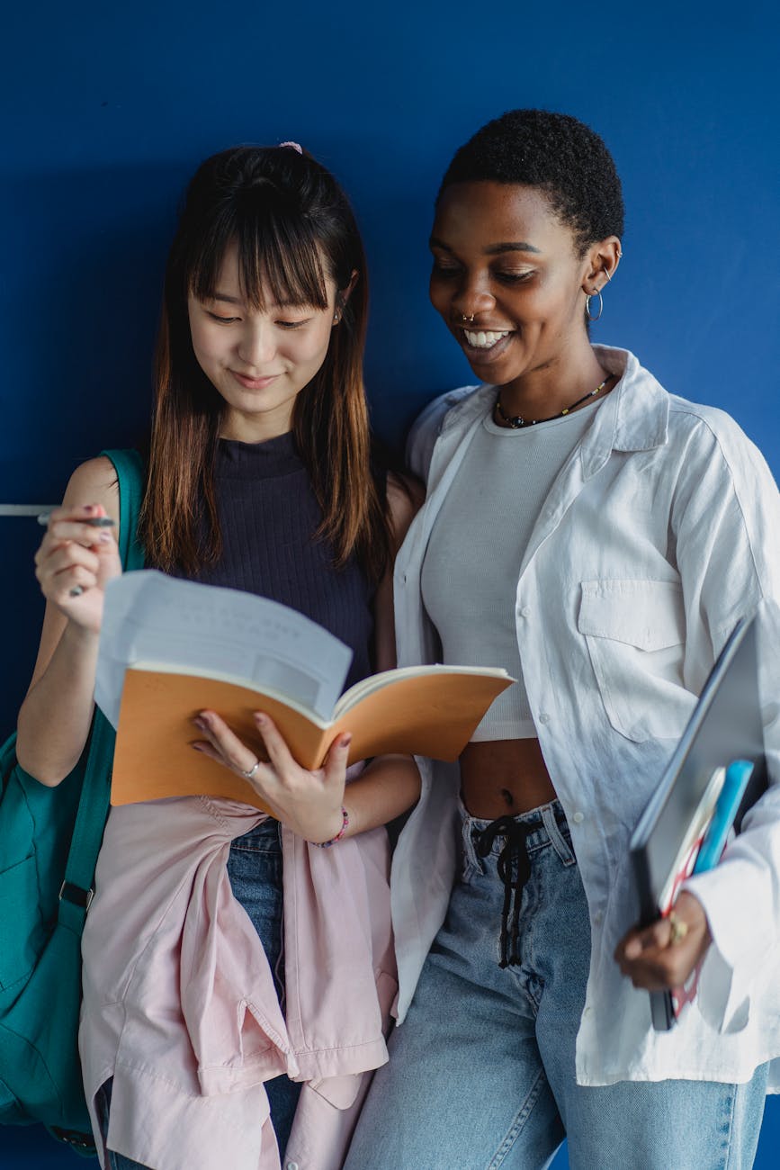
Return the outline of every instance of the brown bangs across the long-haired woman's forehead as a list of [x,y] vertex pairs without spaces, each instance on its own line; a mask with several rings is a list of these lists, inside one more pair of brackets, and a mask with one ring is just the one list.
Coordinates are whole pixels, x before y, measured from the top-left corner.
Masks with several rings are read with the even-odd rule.
[[242,204],[214,225],[200,255],[192,257],[189,291],[199,301],[213,298],[225,253],[237,245],[241,291],[253,309],[265,311],[267,297],[274,305],[326,309],[323,256],[308,219],[284,207],[270,185],[250,188]]

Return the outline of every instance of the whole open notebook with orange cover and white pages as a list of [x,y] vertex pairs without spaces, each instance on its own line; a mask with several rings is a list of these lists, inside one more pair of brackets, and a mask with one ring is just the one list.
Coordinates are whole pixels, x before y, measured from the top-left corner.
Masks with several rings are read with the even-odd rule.
[[[120,577],[106,590],[96,687],[117,728],[111,803],[205,794],[269,811],[244,778],[267,755],[258,711],[309,775],[323,775],[346,734],[347,763],[456,759],[513,682],[502,669],[421,666],[381,672],[341,695],[350,659],[327,631],[267,598],[150,570]],[[227,755],[210,741],[216,756],[192,750],[193,720],[203,711],[219,713],[220,735],[233,736]],[[230,771],[220,766],[226,760]]]

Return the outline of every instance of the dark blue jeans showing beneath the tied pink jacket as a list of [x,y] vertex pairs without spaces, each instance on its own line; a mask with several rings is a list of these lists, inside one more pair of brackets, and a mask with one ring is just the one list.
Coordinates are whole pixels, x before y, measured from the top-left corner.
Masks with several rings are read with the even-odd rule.
[[[276,820],[265,820],[255,828],[236,838],[230,846],[228,876],[233,893],[251,918],[269,965],[284,1011],[284,954],[282,949],[282,839]],[[271,1107],[274,1133],[283,1155],[290,1137],[301,1085],[287,1076],[276,1076],[265,1082],[265,1092]],[[101,1090],[98,1107],[102,1114],[103,1134],[108,1133],[111,1082]],[[110,1170],[146,1170],[124,1154],[109,1150]],[[209,1168],[210,1170],[210,1168]]]

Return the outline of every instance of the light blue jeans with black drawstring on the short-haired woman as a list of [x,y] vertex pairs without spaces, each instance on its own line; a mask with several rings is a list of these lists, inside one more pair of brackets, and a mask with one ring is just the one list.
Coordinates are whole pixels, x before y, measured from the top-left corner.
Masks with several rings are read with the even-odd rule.
[[[505,835],[481,856],[490,823],[464,814],[462,876],[345,1170],[541,1170],[564,1136],[570,1165],[582,1170],[746,1170],[766,1067],[748,1085],[577,1085],[591,956],[585,892],[558,801],[515,823],[525,851],[506,866]],[[527,869],[519,963],[502,968],[518,867]]]

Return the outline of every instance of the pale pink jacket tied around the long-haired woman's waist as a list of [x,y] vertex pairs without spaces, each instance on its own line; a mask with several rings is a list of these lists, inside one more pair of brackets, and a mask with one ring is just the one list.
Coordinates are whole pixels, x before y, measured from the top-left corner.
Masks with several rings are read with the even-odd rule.
[[233,896],[263,817],[192,797],[111,811],[84,931],[81,1052],[113,1078],[108,1145],[160,1170],[277,1170],[263,1082],[304,1081],[285,1165],[340,1165],[395,997],[385,830],[318,849],[282,830],[287,1019]]

